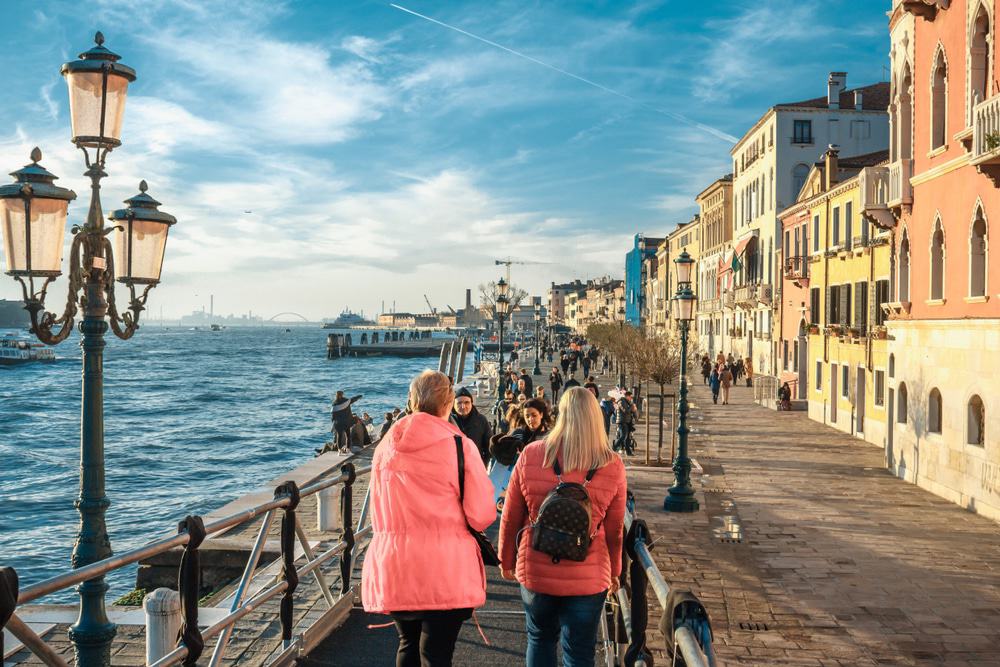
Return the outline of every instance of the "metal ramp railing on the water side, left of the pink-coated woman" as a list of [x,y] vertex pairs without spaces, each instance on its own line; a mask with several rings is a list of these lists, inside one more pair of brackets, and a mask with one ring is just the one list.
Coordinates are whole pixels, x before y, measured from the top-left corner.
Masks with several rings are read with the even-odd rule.
[[[287,481],[274,490],[273,500],[260,503],[239,512],[234,512],[210,523],[197,515],[189,515],[179,525],[176,535],[154,540],[142,547],[132,549],[122,554],[106,558],[85,567],[77,568],[39,583],[17,590],[16,573],[12,568],[0,568],[4,579],[14,581],[13,594],[9,593],[11,586],[0,585],[0,629],[6,628],[25,648],[36,655],[50,667],[66,667],[65,659],[59,655],[45,640],[39,637],[24,621],[18,618],[17,608],[34,600],[45,597],[57,591],[118,570],[127,565],[138,563],[157,554],[164,553],[175,547],[183,547],[180,572],[178,576],[178,592],[180,593],[182,628],[176,648],[151,663],[150,667],[167,667],[183,662],[184,665],[194,665],[198,662],[205,649],[205,641],[218,636],[212,656],[207,663],[216,667],[225,657],[233,626],[242,618],[260,608],[262,604],[281,595],[279,619],[281,622],[281,650],[270,661],[270,665],[285,665],[301,653],[314,648],[331,630],[336,628],[346,618],[353,607],[356,591],[352,585],[352,573],[356,556],[359,556],[367,542],[361,547],[359,543],[371,536],[371,526],[366,526],[368,518],[368,497],[366,495],[357,525],[354,524],[353,487],[357,477],[371,472],[371,466],[356,469],[353,463],[341,467],[341,474],[330,479],[313,482],[303,488],[298,488],[294,481]],[[318,495],[335,486],[342,485],[340,495],[341,539],[321,554],[314,554],[305,531],[296,515],[296,508],[303,498]],[[268,538],[268,530],[275,513],[281,511],[280,572],[276,583],[265,586],[247,598],[250,583],[257,572],[257,565]],[[252,522],[263,516],[260,530],[257,533],[253,548],[247,559],[243,576],[232,596],[229,613],[204,630],[198,624],[198,600],[201,584],[199,563],[199,547],[206,537]],[[302,556],[296,554],[295,542],[298,540]],[[356,552],[357,550],[357,552]],[[338,596],[331,592],[325,575],[320,566],[340,556],[341,586]],[[301,566],[296,566],[298,560],[304,559]],[[293,619],[294,593],[299,585],[300,577],[311,575],[319,585],[327,602],[327,610],[320,615],[301,634],[293,637],[295,622]],[[9,598],[9,599],[7,599]],[[245,599],[246,598],[246,599]]]

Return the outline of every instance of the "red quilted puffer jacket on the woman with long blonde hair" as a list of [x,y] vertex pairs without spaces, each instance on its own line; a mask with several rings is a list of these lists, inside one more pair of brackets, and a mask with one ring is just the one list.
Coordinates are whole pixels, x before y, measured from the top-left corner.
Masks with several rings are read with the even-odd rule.
[[[552,558],[531,548],[530,526],[517,534],[538,509],[549,491],[559,483],[552,468],[543,468],[545,443],[534,442],[524,448],[514,466],[507,499],[500,518],[500,560],[504,570],[517,565],[517,580],[535,593],[549,595],[594,595],[608,587],[612,577],[622,570],[622,528],[625,521],[625,465],[615,456],[597,471],[587,491],[590,493],[591,532],[600,525],[587,560],[582,563]],[[582,484],[586,470],[563,473],[564,482]]]

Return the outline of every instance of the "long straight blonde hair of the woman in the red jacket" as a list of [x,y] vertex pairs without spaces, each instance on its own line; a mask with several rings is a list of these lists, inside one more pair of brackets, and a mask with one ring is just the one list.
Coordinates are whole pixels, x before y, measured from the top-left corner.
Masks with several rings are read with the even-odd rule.
[[615,457],[608,445],[601,406],[583,387],[572,387],[559,399],[559,418],[545,438],[542,465],[552,467],[556,457],[563,472],[600,468]]

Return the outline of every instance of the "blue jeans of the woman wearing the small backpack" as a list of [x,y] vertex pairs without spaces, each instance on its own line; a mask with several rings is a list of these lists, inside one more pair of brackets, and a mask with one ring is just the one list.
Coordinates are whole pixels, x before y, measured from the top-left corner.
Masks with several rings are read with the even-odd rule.
[[607,591],[595,595],[547,595],[521,586],[528,629],[528,667],[557,667],[562,639],[563,667],[593,667],[597,628]]

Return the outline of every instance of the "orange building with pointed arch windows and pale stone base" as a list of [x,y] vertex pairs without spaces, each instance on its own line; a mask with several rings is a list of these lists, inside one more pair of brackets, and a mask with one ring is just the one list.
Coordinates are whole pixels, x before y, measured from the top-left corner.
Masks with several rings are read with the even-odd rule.
[[899,477],[1000,519],[996,4],[897,0],[890,14],[886,458]]

